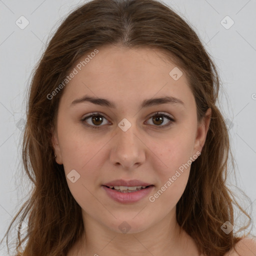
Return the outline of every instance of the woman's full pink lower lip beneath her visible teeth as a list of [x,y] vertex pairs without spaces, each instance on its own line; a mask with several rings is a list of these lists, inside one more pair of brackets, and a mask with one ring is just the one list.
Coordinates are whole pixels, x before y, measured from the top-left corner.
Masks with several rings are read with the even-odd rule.
[[139,201],[153,189],[153,185],[151,185],[135,192],[122,193],[104,185],[102,185],[102,187],[105,189],[109,197],[111,197],[113,200],[117,202],[122,202],[122,203],[132,203],[132,202]]

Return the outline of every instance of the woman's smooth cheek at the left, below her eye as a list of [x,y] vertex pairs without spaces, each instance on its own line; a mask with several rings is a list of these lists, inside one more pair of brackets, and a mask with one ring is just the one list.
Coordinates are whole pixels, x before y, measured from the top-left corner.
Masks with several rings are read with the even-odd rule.
[[[98,183],[99,158],[103,160],[102,145],[108,141],[107,138],[97,138],[95,134],[85,132],[82,127],[70,123],[59,127],[58,137],[61,142],[64,172],[71,193],[75,199],[77,197],[77,201],[91,199],[89,191],[93,191],[93,184]],[[69,179],[69,173],[74,173],[74,183]]]

